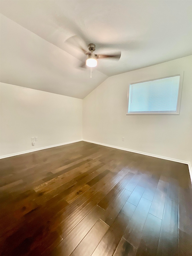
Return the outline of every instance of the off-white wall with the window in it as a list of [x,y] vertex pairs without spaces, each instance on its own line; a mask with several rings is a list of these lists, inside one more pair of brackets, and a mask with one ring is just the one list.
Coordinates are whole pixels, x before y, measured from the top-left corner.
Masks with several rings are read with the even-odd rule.
[[[192,162],[191,63],[187,56],[109,77],[83,99],[83,139]],[[130,83],[183,71],[180,115],[126,115]]]

